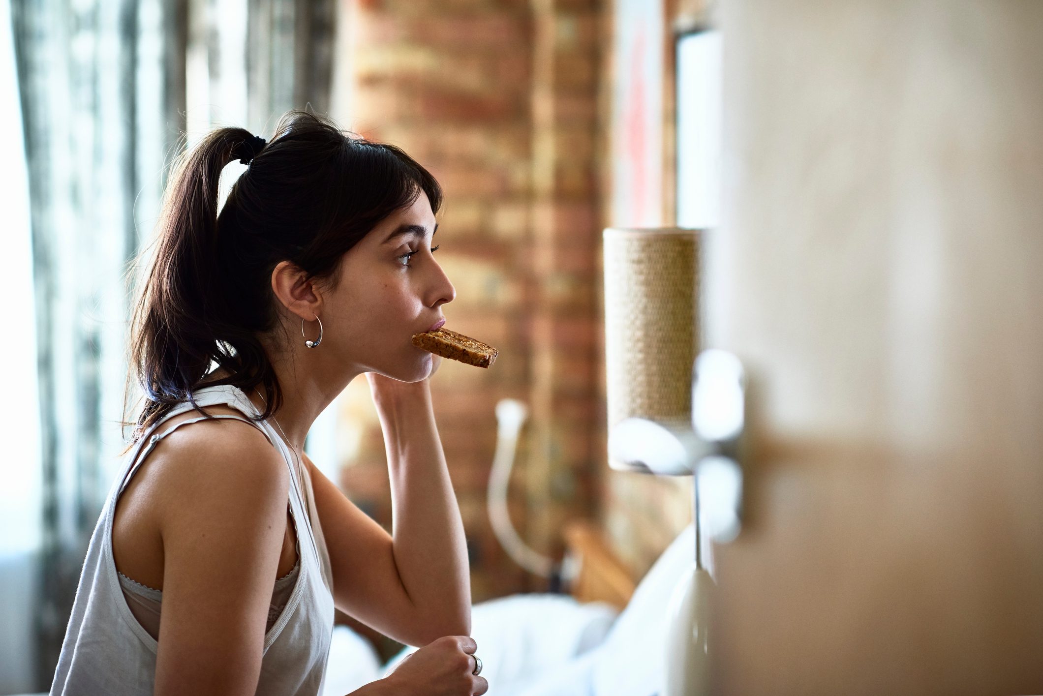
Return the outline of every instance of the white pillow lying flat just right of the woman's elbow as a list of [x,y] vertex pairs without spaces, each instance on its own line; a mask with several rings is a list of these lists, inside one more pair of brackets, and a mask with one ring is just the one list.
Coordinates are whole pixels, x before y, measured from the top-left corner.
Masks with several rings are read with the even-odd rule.
[[[478,643],[482,676],[490,696],[510,685],[532,681],[600,645],[618,611],[604,602],[580,603],[568,595],[510,595],[471,607],[471,638]],[[407,646],[383,674],[415,652]]]

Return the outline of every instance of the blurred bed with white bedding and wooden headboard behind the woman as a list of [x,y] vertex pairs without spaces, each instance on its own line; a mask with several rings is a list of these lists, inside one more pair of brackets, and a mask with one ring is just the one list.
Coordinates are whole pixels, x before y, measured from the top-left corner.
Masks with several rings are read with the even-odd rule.
[[[598,529],[565,529],[579,563],[568,595],[522,594],[475,604],[471,637],[488,696],[654,696],[662,691],[666,611],[690,572],[688,525],[634,585]],[[382,661],[369,637],[338,625],[321,696],[344,696],[394,670],[416,648]]]

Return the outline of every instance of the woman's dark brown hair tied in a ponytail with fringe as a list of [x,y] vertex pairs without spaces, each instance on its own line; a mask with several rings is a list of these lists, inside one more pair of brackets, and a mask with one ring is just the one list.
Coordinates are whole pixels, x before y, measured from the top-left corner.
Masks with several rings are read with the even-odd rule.
[[275,265],[290,261],[316,284],[336,287],[341,257],[381,220],[421,190],[432,212],[441,208],[434,176],[401,148],[294,110],[218,214],[221,170],[249,158],[252,138],[243,128],[218,128],[174,164],[130,323],[127,386],[137,379],[145,404],[127,450],[179,402],[208,415],[194,390],[215,362],[231,376],[208,384],[247,392],[263,385],[267,407],[257,419],[270,416],[282,388],[258,335],[277,326]]

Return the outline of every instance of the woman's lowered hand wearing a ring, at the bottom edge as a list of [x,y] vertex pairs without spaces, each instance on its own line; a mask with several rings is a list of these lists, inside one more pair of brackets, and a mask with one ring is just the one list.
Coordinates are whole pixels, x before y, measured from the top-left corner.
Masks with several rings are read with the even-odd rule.
[[474,674],[477,649],[469,635],[443,635],[398,663],[384,681],[410,696],[479,696],[489,682]]

